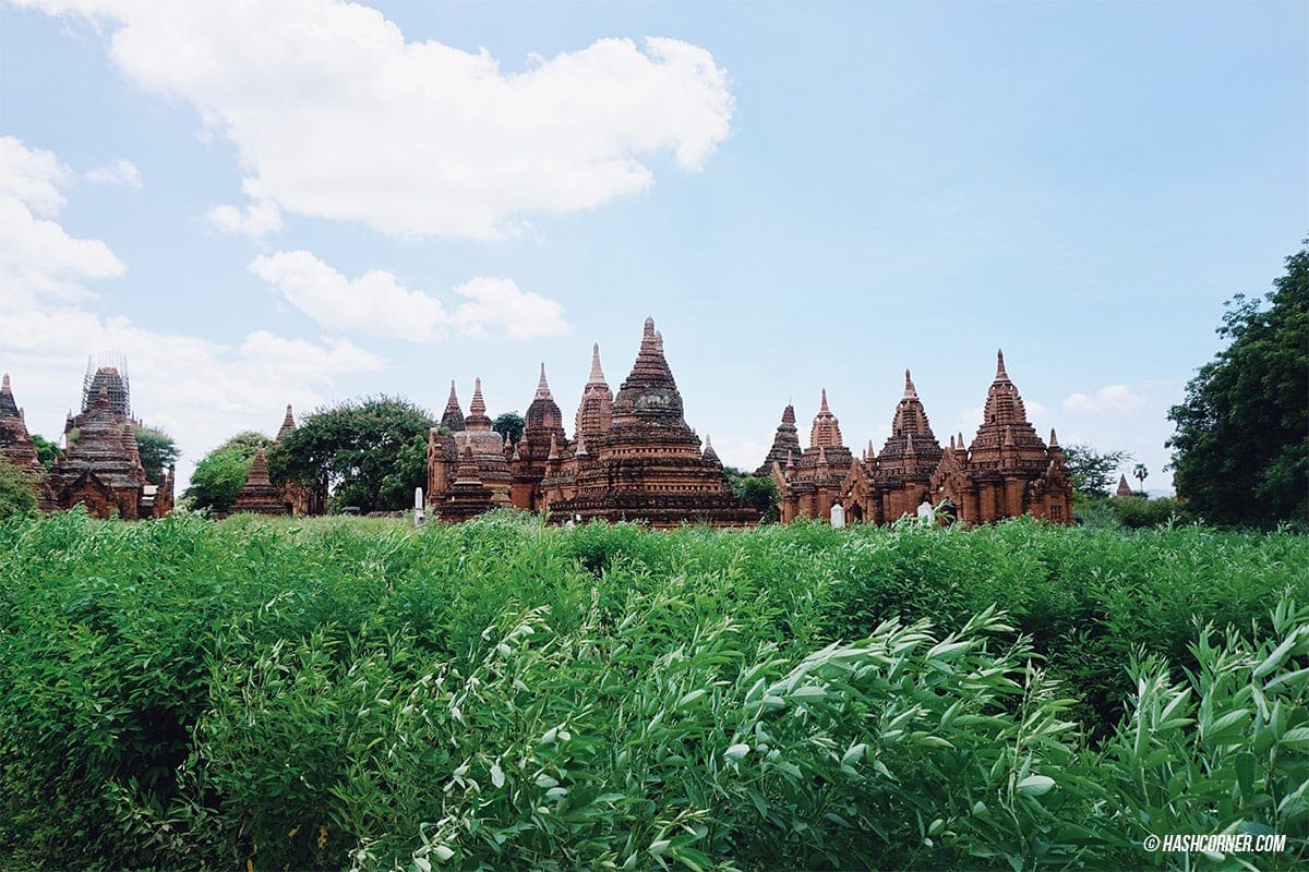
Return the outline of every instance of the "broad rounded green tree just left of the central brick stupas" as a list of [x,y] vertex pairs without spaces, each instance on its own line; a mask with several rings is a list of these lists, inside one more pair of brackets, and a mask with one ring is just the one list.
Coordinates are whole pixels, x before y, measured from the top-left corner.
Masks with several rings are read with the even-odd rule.
[[332,506],[398,511],[427,484],[427,435],[435,421],[399,397],[348,400],[321,409],[268,452],[274,481],[295,478],[331,493]]

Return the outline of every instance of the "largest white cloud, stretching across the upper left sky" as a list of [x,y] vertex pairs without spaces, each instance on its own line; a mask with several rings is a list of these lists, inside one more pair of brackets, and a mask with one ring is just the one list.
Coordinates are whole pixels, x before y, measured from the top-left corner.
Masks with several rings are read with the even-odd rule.
[[648,156],[698,170],[733,114],[725,71],[675,39],[600,39],[503,73],[351,3],[18,1],[106,22],[131,80],[232,140],[254,200],[397,235],[493,239],[641,191]]

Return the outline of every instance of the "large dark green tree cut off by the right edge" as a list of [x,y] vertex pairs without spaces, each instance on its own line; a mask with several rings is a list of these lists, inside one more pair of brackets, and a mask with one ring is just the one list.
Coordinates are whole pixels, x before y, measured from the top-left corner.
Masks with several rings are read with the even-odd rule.
[[1263,299],[1228,301],[1230,344],[1168,413],[1177,493],[1213,524],[1309,518],[1309,247],[1285,263]]

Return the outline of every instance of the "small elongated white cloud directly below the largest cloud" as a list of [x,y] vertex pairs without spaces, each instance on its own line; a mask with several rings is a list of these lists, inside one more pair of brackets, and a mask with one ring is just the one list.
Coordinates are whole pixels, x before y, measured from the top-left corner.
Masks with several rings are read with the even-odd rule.
[[449,333],[512,339],[568,332],[563,307],[520,290],[508,278],[473,278],[454,288],[467,297],[453,311],[436,297],[402,286],[394,275],[374,269],[347,278],[308,251],[279,251],[257,258],[255,273],[287,302],[335,333],[363,333],[420,343]]

